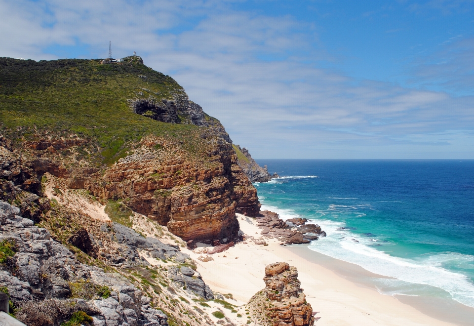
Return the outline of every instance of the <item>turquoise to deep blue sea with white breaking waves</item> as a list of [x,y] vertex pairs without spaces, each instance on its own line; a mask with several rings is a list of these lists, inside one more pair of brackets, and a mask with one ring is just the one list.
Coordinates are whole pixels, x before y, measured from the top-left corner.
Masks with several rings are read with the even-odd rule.
[[474,307],[474,160],[256,160],[281,178],[255,183],[262,209],[305,217],[312,250],[391,278],[384,294]]

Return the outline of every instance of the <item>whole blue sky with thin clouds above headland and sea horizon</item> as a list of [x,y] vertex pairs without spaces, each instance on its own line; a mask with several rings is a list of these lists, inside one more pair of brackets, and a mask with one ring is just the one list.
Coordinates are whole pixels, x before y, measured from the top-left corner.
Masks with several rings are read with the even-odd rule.
[[257,159],[474,159],[474,0],[0,0],[0,31],[136,51]]

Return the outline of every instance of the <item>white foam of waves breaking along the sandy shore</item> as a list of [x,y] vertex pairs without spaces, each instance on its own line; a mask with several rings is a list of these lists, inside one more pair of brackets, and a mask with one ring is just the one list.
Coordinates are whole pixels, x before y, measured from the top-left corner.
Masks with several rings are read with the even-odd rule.
[[[340,227],[340,224],[332,221],[314,220],[314,222],[321,225],[327,237],[314,241],[309,248],[359,265],[369,272],[395,278],[396,280],[385,279],[383,280],[385,284],[377,286],[381,293],[430,294],[427,293],[429,288],[422,286],[430,285],[448,292],[454,300],[474,307],[474,285],[471,280],[462,273],[450,271],[443,266],[446,263],[450,265],[464,263],[466,266],[471,266],[474,256],[446,252],[427,255],[418,260],[395,257],[374,248],[377,239],[361,237],[350,230],[336,230],[334,227]],[[381,280],[377,282],[380,283]],[[424,293],[421,293],[421,290]]]

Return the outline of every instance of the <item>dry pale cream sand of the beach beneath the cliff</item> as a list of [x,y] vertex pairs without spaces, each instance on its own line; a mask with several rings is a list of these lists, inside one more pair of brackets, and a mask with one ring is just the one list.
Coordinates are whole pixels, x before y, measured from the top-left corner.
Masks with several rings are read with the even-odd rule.
[[[255,220],[240,214],[237,216],[241,231],[258,239],[260,229]],[[206,284],[214,291],[232,293],[237,304],[246,303],[265,287],[262,279],[266,265],[284,261],[297,267],[307,301],[314,311],[319,312],[316,317],[320,319],[316,325],[460,325],[430,317],[397,297],[383,295],[374,288],[351,282],[333,270],[306,259],[305,250],[308,254],[311,252],[304,245],[282,246],[276,240],[265,241],[267,246],[250,241],[239,243],[225,252],[213,254],[214,260],[208,262],[197,260],[206,256],[197,253],[202,251],[201,247],[184,251],[197,261],[197,271]]]

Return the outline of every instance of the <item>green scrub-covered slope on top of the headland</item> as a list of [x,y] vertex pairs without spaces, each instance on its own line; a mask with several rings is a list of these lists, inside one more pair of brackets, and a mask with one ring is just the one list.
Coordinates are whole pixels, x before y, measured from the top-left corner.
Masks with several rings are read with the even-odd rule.
[[199,154],[204,146],[199,127],[158,122],[129,108],[129,99],[184,94],[171,77],[136,58],[104,65],[98,59],[0,58],[0,133],[17,145],[38,135],[87,139],[81,153],[97,165],[116,161],[128,144],[149,134],[176,138],[183,149]]

